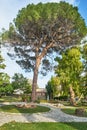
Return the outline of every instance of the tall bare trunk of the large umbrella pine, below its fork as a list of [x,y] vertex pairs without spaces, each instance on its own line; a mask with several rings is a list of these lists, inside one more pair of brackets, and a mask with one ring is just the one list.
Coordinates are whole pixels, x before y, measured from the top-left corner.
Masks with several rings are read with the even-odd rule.
[[37,87],[39,65],[40,65],[40,59],[36,59],[34,75],[33,75],[33,83],[32,83],[32,95],[31,95],[32,102],[36,100],[36,87]]

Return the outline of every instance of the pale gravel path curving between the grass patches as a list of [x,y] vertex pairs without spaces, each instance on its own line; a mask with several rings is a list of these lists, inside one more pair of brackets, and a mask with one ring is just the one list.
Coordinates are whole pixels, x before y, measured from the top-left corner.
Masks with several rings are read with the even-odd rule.
[[63,113],[59,108],[49,104],[41,104],[51,108],[49,112],[23,114],[0,112],[0,126],[11,122],[87,122],[86,117],[76,117]]

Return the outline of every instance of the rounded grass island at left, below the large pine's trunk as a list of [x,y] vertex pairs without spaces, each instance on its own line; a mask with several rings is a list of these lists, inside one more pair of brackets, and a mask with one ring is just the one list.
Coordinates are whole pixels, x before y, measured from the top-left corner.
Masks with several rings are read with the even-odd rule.
[[0,107],[0,111],[10,113],[37,113],[48,112],[50,108],[44,106],[36,106],[35,108],[19,108],[15,105],[4,105]]

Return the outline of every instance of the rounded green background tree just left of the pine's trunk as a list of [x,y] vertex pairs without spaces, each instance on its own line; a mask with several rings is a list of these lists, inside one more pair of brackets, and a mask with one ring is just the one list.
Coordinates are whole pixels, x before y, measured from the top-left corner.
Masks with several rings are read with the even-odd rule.
[[26,79],[22,74],[19,73],[15,73],[12,77],[12,86],[13,89],[21,89],[24,91],[24,93],[31,92],[31,85],[28,82],[28,79]]

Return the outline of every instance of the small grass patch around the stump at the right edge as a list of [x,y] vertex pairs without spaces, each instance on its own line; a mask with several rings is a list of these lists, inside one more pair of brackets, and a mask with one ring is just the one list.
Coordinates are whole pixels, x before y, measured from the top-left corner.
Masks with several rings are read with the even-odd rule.
[[[84,107],[83,107],[84,108]],[[61,109],[64,113],[69,114],[69,115],[75,115],[75,109],[76,107],[71,107],[71,108],[63,108]],[[86,113],[84,117],[87,117],[87,107],[85,107]]]

